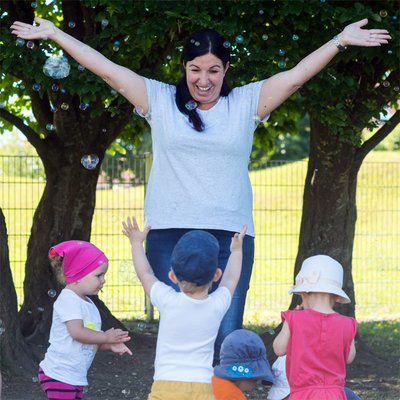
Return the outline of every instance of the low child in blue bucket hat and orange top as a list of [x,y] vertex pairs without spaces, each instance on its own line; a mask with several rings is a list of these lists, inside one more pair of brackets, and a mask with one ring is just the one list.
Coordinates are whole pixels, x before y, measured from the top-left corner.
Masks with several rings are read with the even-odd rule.
[[257,381],[274,383],[265,345],[255,332],[237,329],[221,345],[212,384],[216,400],[246,400]]

